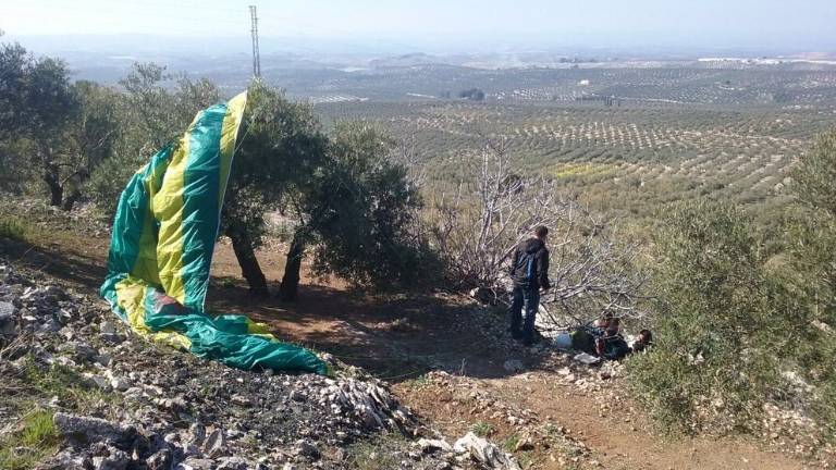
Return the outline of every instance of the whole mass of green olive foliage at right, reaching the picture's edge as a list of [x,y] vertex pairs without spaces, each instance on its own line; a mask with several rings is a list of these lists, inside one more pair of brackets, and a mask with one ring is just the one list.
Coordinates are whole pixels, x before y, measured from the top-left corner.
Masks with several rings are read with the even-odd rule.
[[797,201],[763,227],[738,209],[674,206],[654,237],[655,348],[629,361],[668,429],[751,430],[762,406],[836,431],[836,132],[794,171]]

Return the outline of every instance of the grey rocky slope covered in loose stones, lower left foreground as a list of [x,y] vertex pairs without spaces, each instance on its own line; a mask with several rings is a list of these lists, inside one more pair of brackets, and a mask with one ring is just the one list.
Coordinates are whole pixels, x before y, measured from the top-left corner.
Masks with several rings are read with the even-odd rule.
[[[8,263],[0,264],[0,333],[8,467],[379,468],[371,465],[385,455],[391,468],[468,468],[479,459],[516,468],[475,435],[454,448],[386,384],[327,354],[332,378],[202,361],[135,336],[100,299]],[[33,410],[51,416],[57,437],[42,455],[15,442]]]

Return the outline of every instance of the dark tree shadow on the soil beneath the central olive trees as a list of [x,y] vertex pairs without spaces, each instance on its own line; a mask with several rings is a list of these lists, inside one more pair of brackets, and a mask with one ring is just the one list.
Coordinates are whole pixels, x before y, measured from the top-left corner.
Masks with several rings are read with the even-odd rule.
[[509,358],[528,368],[540,362],[521,347],[508,351],[503,346],[509,339],[503,311],[456,295],[370,296],[304,285],[297,301],[283,302],[251,298],[245,285],[235,284],[211,289],[208,308],[246,314],[269,324],[283,341],[332,354],[390,382],[432,370],[495,379],[509,374],[503,367]]

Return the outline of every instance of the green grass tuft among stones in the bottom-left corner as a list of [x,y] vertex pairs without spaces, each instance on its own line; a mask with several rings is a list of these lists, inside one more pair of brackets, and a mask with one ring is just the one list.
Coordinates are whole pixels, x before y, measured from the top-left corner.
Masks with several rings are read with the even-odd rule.
[[59,435],[52,412],[34,411],[23,418],[20,431],[0,440],[0,470],[27,470],[58,450]]

